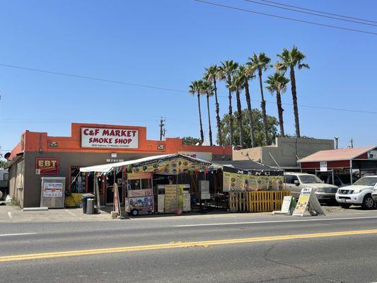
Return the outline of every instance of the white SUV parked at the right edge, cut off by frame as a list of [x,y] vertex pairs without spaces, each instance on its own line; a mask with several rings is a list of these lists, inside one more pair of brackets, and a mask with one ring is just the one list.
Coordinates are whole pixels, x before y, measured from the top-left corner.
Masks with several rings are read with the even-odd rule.
[[362,177],[356,180],[353,185],[340,188],[335,196],[337,202],[344,208],[349,208],[351,205],[361,205],[364,209],[373,209],[375,202],[372,193],[376,183],[377,175]]

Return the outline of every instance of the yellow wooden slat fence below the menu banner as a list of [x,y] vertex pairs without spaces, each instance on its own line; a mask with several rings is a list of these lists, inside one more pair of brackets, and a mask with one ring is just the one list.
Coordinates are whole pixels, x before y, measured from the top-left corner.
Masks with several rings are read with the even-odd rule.
[[285,196],[289,190],[229,192],[230,212],[273,212],[282,209]]

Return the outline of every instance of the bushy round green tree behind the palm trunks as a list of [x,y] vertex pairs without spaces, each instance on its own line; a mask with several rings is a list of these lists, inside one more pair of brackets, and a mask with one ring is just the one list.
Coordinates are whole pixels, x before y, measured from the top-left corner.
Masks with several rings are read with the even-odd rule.
[[[233,114],[234,115],[234,114]],[[253,109],[253,125],[255,130],[255,146],[264,146],[265,145],[265,133],[264,133],[264,126],[263,126],[263,119],[262,119],[262,112],[257,109]],[[243,137],[245,137],[244,144],[246,147],[251,146],[251,135],[250,135],[250,120],[248,117],[248,110],[242,110],[242,120],[243,120]],[[236,121],[232,120],[235,125],[233,128],[235,129],[233,133],[233,138],[236,144],[239,144],[240,141],[240,132],[239,128],[236,126]],[[229,145],[230,143],[230,119],[229,115],[226,114],[221,119],[221,132],[223,134],[223,144]],[[277,137],[277,119],[273,116],[267,115],[267,134],[269,139],[274,139]]]

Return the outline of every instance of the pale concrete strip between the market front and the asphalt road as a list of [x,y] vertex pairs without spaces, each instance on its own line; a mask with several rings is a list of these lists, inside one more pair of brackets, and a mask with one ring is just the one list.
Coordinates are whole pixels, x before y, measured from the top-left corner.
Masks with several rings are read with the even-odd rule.
[[[370,215],[373,211],[361,210],[359,208],[354,209],[342,209],[341,207],[323,206],[327,217],[353,217],[353,216],[365,216]],[[74,209],[49,209],[48,211],[35,211],[24,212],[22,209],[16,206],[1,205],[0,206],[0,223],[32,223],[32,222],[64,222],[64,221],[118,221],[118,219],[111,219],[110,208],[106,211],[101,211],[100,214],[83,214],[83,210],[80,208]],[[377,211],[376,212],[377,215]],[[122,212],[124,216],[127,216],[125,212]],[[282,219],[284,215],[272,216],[271,212],[262,213],[239,213],[230,214],[227,212],[212,211],[206,214],[197,212],[185,213],[180,216],[174,214],[154,214],[154,215],[140,215],[134,217],[128,217],[133,221],[148,221],[148,220],[168,220],[168,219],[246,219],[250,221],[265,221],[269,219]],[[321,216],[322,217],[322,216]],[[298,217],[296,217],[298,218]]]

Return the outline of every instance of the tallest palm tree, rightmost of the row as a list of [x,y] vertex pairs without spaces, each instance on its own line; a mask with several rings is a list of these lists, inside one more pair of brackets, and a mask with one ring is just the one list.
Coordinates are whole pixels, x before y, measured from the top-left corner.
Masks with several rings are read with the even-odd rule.
[[309,69],[309,65],[302,63],[306,56],[300,52],[296,46],[292,50],[287,50],[284,48],[282,54],[277,54],[282,61],[277,62],[276,67],[278,70],[286,71],[289,69],[289,76],[291,77],[291,91],[292,100],[294,103],[294,123],[296,127],[296,137],[300,137],[300,122],[298,120],[298,107],[297,107],[297,91],[296,91],[296,76],[294,74],[294,68],[298,69],[306,68]]

